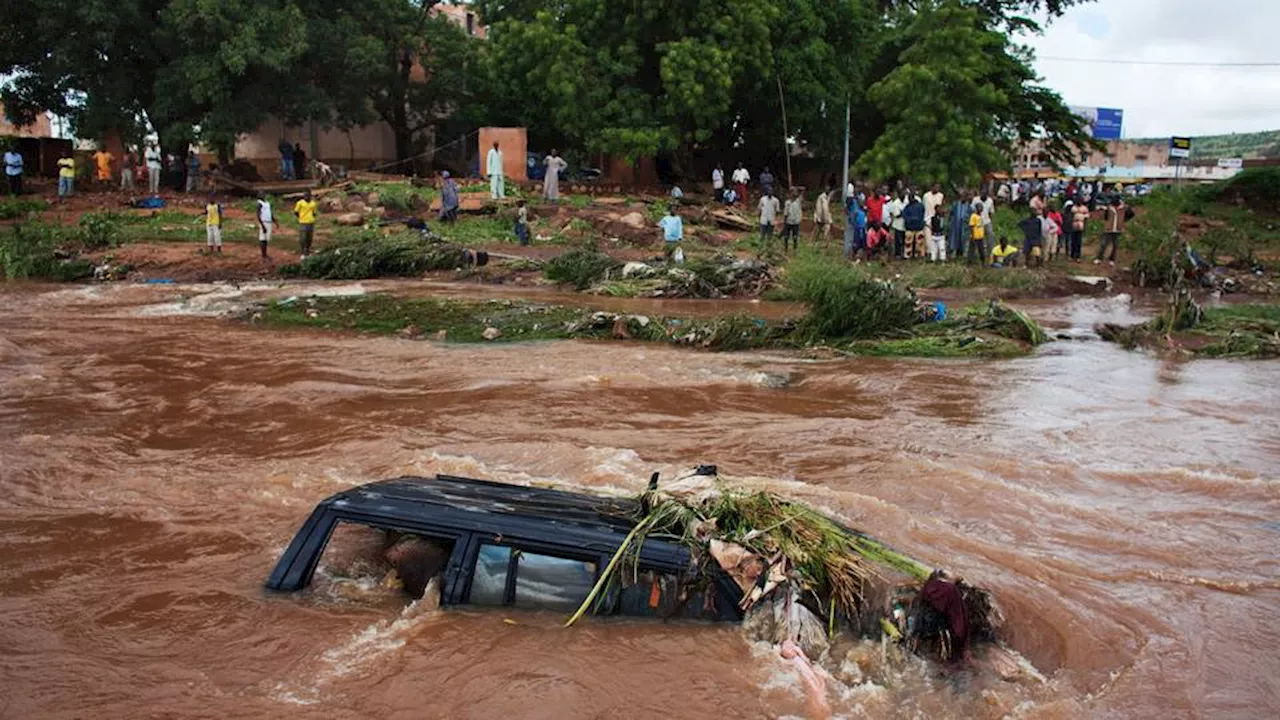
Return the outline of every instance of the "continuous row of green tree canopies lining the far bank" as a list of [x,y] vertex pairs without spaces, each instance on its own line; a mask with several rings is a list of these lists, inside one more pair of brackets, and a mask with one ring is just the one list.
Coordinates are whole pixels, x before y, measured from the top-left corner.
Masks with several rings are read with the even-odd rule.
[[849,102],[860,170],[964,183],[1020,140],[1089,143],[1016,42],[1082,1],[476,0],[481,42],[439,0],[10,0],[0,73],[13,119],[86,137],[229,149],[269,117],[384,120],[402,159],[518,124],[535,146],[777,167],[785,142],[838,158]]

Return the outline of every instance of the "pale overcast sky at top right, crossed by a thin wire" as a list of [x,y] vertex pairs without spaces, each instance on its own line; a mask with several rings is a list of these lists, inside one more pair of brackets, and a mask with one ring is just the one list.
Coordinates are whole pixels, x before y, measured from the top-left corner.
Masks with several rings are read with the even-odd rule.
[[1280,129],[1280,67],[1064,63],[1042,56],[1196,63],[1280,61],[1280,0],[1097,0],[1029,37],[1046,85],[1069,105],[1120,108],[1125,137]]

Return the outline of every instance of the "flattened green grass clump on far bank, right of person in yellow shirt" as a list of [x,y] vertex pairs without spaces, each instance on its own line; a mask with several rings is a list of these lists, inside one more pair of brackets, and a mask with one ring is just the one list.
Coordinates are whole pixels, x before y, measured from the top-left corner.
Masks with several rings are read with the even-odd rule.
[[301,264],[282,268],[280,274],[358,281],[416,277],[429,270],[461,268],[466,263],[466,250],[458,245],[428,240],[412,231],[394,234],[366,231],[326,245]]

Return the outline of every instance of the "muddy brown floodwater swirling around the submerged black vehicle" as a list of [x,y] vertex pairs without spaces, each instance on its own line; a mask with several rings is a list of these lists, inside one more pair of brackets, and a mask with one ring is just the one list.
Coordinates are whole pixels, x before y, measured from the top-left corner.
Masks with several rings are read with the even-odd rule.
[[[840,716],[1280,715],[1276,363],[1083,340],[810,363],[183,314],[238,292],[0,290],[0,716],[803,715],[735,628],[421,611],[324,568],[261,589],[312,505],[357,483],[636,491],[698,462],[988,585],[1046,676],[835,685]],[[1130,314],[1028,307],[1075,336]]]

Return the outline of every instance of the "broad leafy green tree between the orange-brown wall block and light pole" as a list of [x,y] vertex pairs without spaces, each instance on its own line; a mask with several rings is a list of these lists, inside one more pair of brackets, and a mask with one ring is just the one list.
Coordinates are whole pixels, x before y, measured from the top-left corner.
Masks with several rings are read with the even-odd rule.
[[[870,0],[477,3],[497,96],[535,140],[628,158],[836,137]],[[767,140],[765,140],[767,138]]]

